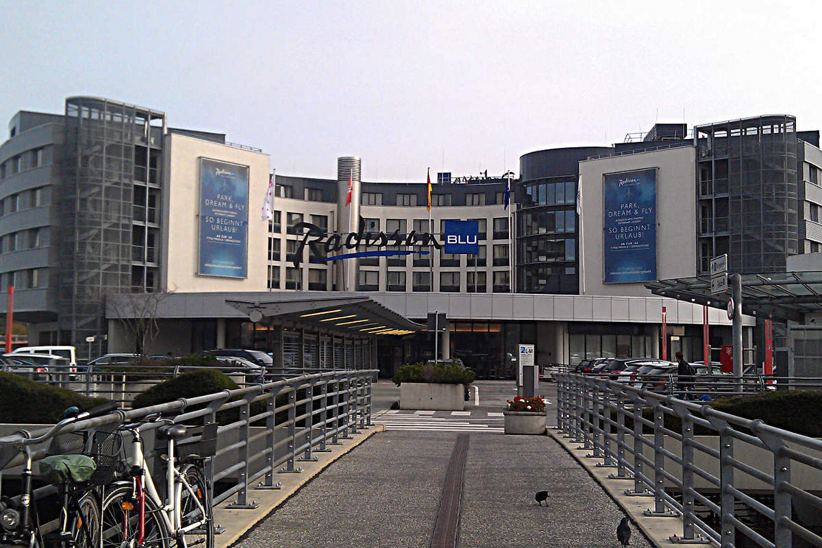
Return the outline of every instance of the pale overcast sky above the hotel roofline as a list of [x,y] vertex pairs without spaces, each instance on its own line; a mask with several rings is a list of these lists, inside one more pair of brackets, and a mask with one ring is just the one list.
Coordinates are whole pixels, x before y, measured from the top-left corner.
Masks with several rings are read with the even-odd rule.
[[822,127],[820,5],[0,0],[0,120],[88,94],[225,132],[285,175],[335,177],[340,155],[371,181],[519,173],[521,154],[683,113]]

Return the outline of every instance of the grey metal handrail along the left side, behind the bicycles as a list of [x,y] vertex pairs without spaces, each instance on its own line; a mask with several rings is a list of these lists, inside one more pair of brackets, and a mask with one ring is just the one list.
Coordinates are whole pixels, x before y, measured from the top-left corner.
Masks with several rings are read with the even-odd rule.
[[[122,409],[105,417],[77,421],[62,429],[61,434],[139,421],[158,412],[174,417],[174,421],[178,423],[205,424],[217,421],[218,412],[239,409],[237,421],[219,426],[218,436],[222,436],[218,437],[216,455],[206,464],[205,472],[212,490],[215,483],[222,482],[219,494],[211,497],[213,505],[224,503],[236,495],[236,500],[229,507],[252,509],[256,508],[256,504],[249,501],[249,490],[279,488],[280,484],[275,481],[278,473],[302,472],[297,463],[316,460],[312,455],[314,451],[326,451],[327,445],[351,439],[352,434],[372,426],[372,382],[376,379],[377,372],[378,370],[325,371],[196,398],[178,398],[169,403]],[[300,390],[304,391],[304,397],[298,400],[297,393]],[[278,406],[279,394],[287,395],[288,403]],[[257,402],[263,403],[266,410],[252,415],[252,403]],[[195,406],[202,407],[187,411]],[[279,420],[279,412],[287,412],[288,418]],[[23,440],[48,431],[49,428],[31,434],[21,431],[0,437],[0,440]],[[236,437],[232,436],[231,441],[225,439],[226,433],[235,431],[238,432]],[[278,435],[280,431],[286,431],[286,434]],[[37,445],[32,450],[32,458],[39,460],[46,456],[45,453],[45,446]],[[150,456],[151,452],[146,454],[149,468],[154,461],[148,458]],[[221,458],[228,459],[229,462],[221,463],[219,472],[215,472],[215,461]],[[0,472],[22,462],[22,456],[18,454]],[[280,466],[283,467],[278,471]],[[0,474],[0,481],[4,476]],[[259,485],[255,487],[255,484]],[[2,485],[0,492],[8,495],[2,490]],[[53,486],[46,486],[35,490],[33,495],[36,500],[53,492]]]

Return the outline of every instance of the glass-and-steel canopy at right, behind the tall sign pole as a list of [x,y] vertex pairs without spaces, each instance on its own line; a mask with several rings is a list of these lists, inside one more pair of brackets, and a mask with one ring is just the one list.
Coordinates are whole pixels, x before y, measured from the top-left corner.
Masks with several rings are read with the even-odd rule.
[[[730,283],[730,280],[729,280]],[[645,283],[654,295],[724,309],[731,288],[713,295],[710,276]],[[742,274],[742,313],[780,320],[802,320],[822,312],[822,272]]]

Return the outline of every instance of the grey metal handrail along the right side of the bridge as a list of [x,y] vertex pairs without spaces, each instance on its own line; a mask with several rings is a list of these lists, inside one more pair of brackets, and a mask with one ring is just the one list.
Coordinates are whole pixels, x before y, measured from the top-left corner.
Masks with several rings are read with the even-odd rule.
[[[812,486],[806,490],[796,485],[796,479],[792,483],[792,465],[801,464],[819,474],[815,490],[822,489],[822,458],[816,453],[822,452],[822,440],[595,375],[559,373],[555,378],[558,429],[601,458],[598,466],[616,468],[610,477],[633,480],[626,495],[653,497],[653,509],[646,510],[646,516],[680,515],[681,536],[673,535],[672,541],[701,540],[724,548],[738,546],[737,535],[743,535],[765,548],[792,548],[795,537],[822,546],[822,536],[798,523],[792,513],[801,506],[822,509],[822,499],[810,492]],[[771,379],[779,380],[766,380]],[[784,378],[780,384],[793,381]],[[816,381],[819,387],[822,381]],[[651,419],[643,417],[646,409],[653,410]],[[678,431],[666,426],[669,416],[678,419]],[[718,449],[710,447],[715,442],[695,439],[695,426],[709,429],[718,438]],[[645,454],[644,448],[653,454]],[[734,457],[735,450],[739,458]],[[744,455],[752,451],[767,455],[764,469],[761,463],[757,467],[757,462],[746,462]],[[713,469],[718,469],[718,476],[708,472]],[[707,487],[698,485],[697,477]],[[771,493],[774,502],[755,500],[745,492],[743,479],[759,481],[757,490]],[[678,490],[679,496],[668,489]],[[717,493],[719,504],[710,499]],[[704,512],[697,513],[695,504]],[[772,531],[756,531],[742,521],[742,510],[769,520]]]

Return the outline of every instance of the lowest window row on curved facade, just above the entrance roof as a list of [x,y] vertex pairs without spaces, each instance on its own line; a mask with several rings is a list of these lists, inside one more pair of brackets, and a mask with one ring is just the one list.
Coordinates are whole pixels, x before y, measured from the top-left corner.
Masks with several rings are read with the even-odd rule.
[[[302,289],[300,270],[293,267],[285,269],[285,289]],[[487,291],[487,272],[466,272],[465,285],[468,292]],[[459,292],[460,272],[441,272],[440,291]],[[510,273],[499,270],[492,273],[493,291],[506,292],[510,286]],[[390,270],[386,273],[386,289],[388,291],[404,292],[407,290],[407,276],[405,270]],[[376,291],[380,287],[381,273],[379,270],[361,270],[359,272],[359,288],[361,291]],[[268,288],[280,289],[280,269],[278,266],[268,267]],[[413,291],[431,291],[431,272],[419,271],[412,273]],[[325,291],[328,283],[326,269],[308,269],[307,289],[310,291]]]

